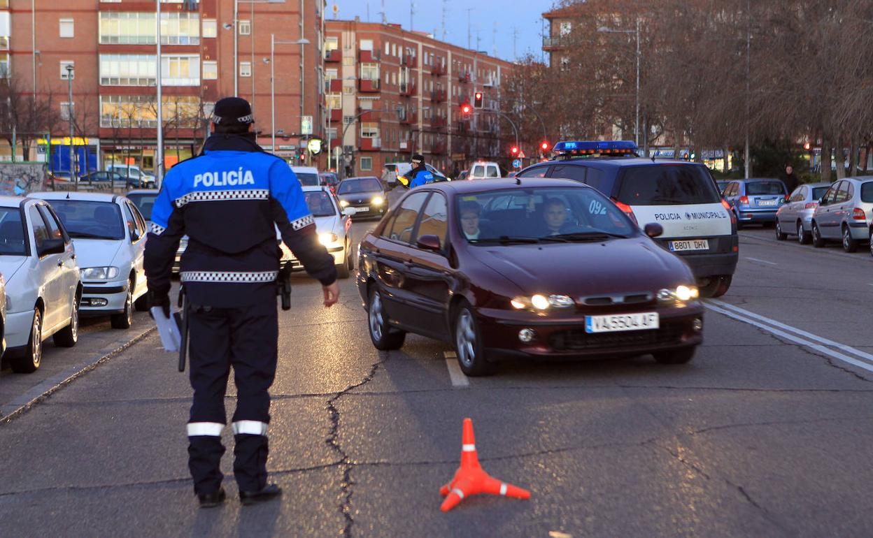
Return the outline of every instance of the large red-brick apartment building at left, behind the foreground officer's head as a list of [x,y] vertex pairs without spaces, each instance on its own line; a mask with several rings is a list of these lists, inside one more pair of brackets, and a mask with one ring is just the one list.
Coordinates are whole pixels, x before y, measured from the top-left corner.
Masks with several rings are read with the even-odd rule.
[[[323,3],[162,0],[161,8],[165,166],[199,151],[213,104],[235,92],[252,103],[259,143],[311,160],[301,147],[324,136]],[[155,169],[156,24],[148,0],[0,1],[0,44],[8,44],[0,72],[16,92],[49,100],[57,112],[51,152],[35,133],[31,160],[51,153],[54,168],[68,169],[72,143],[81,172],[109,162]]]

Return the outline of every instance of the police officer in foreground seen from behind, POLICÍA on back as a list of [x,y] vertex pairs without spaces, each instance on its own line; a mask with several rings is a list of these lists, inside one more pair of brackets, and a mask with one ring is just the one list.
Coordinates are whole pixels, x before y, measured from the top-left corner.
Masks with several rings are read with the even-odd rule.
[[251,106],[220,99],[203,153],[169,170],[152,211],[145,269],[152,306],[169,309],[170,271],[182,235],[181,280],[187,296],[190,381],[189,470],[201,507],[224,501],[220,471],[226,424],[224,392],[233,365],[233,472],[243,504],[281,494],[267,483],[267,425],[276,374],[276,279],[282,241],[336,303],[333,257],[320,245],[300,182],[284,160],[251,133]]

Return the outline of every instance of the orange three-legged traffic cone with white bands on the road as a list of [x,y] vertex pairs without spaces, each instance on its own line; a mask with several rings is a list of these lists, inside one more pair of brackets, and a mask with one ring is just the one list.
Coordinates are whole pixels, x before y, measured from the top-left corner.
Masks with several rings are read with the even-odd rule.
[[440,507],[443,512],[448,512],[450,509],[457,507],[465,497],[475,494],[504,495],[505,497],[515,497],[516,499],[531,498],[531,492],[526,489],[501,482],[485,473],[482,466],[479,465],[479,458],[476,453],[476,438],[473,435],[473,421],[471,419],[464,419],[462,443],[461,466],[455,471],[455,477],[439,490],[439,493],[445,496],[443,506]]

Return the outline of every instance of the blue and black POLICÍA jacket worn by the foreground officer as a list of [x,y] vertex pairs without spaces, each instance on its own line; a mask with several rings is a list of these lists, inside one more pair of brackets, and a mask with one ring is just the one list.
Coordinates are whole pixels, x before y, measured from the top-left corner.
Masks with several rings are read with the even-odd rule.
[[[275,223],[275,226],[274,226]],[[145,269],[155,296],[169,293],[183,235],[181,279],[191,303],[218,308],[276,301],[282,241],[323,285],[336,280],[297,176],[284,160],[241,135],[215,134],[203,153],[163,180],[152,209]]]

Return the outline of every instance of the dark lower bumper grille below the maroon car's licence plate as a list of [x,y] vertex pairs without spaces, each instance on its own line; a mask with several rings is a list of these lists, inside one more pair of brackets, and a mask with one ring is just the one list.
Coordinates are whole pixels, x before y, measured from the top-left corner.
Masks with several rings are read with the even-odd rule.
[[622,351],[646,345],[681,344],[684,326],[665,323],[656,330],[588,333],[585,330],[561,330],[548,339],[554,351]]

